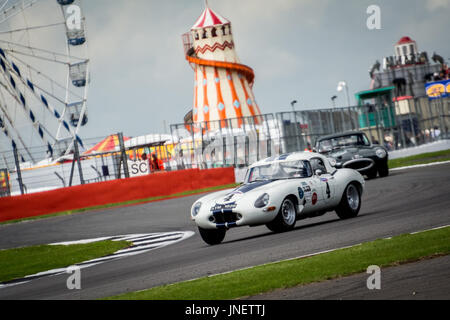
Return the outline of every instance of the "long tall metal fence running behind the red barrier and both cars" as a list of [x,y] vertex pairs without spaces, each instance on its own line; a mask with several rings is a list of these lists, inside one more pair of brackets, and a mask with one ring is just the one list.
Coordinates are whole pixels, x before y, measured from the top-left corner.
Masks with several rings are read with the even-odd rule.
[[[372,142],[391,151],[418,146],[449,138],[449,104],[450,98],[420,97],[389,104],[175,124],[170,127],[171,138],[165,140],[125,147],[121,138],[113,151],[83,155],[74,150],[59,162],[43,160],[32,166],[22,163],[20,150],[1,152],[0,196],[149,174],[151,163],[144,154],[155,154],[162,169],[172,171],[245,167],[267,157],[304,150],[308,144],[314,147],[317,138],[346,131],[363,131]],[[86,140],[85,145],[93,146],[99,140]],[[41,154],[42,150],[35,152]],[[142,168],[145,170],[139,170]]]

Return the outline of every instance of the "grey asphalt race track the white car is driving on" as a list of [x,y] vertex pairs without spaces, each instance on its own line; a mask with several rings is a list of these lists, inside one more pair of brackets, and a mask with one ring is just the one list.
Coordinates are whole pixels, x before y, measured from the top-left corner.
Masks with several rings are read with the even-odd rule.
[[[0,289],[0,299],[97,299],[449,225],[449,190],[450,164],[395,171],[367,182],[361,213],[352,220],[341,221],[329,213],[299,221],[294,231],[284,234],[265,227],[239,228],[215,247],[204,244],[196,234],[175,245],[83,269],[82,290],[69,291],[69,275],[60,275]],[[189,208],[200,197],[0,226],[0,248],[196,231]]]

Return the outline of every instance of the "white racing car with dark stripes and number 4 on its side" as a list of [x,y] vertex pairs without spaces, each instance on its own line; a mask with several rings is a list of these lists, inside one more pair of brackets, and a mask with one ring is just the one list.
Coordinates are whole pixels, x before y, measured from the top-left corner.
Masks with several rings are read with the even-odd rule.
[[336,211],[341,219],[356,217],[364,178],[353,169],[336,169],[335,160],[298,152],[252,165],[244,183],[233,190],[196,201],[191,218],[203,240],[216,245],[227,230],[266,225],[274,232],[294,229],[297,220]]

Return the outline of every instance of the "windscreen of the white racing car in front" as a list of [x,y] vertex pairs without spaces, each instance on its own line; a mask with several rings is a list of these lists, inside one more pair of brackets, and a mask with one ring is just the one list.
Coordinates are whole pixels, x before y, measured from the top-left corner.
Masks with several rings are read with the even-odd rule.
[[257,181],[301,179],[312,176],[308,161],[273,162],[249,169],[245,183]]

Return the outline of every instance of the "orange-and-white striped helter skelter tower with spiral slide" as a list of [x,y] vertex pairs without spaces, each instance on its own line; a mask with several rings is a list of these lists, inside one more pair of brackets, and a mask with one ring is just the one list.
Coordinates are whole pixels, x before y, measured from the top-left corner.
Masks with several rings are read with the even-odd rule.
[[260,124],[261,111],[252,91],[255,74],[240,63],[230,21],[205,4],[191,31],[183,35],[186,60],[195,73],[189,120],[207,130],[241,128],[244,118]]

